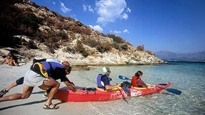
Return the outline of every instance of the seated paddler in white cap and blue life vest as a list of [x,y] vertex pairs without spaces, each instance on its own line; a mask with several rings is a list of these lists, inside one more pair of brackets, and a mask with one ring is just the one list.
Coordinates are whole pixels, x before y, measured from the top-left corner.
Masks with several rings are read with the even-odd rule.
[[120,87],[120,85],[111,85],[110,81],[112,80],[109,75],[111,73],[109,67],[103,67],[103,73],[97,76],[97,87],[104,90],[112,90],[114,88]]

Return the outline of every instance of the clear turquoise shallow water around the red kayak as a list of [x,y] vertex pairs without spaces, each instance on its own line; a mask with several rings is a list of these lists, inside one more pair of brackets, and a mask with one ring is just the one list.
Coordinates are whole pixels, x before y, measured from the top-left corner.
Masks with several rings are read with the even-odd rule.
[[[121,83],[118,75],[129,78],[138,70],[143,71],[142,79],[148,84],[172,82],[170,88],[182,91],[175,95],[167,91],[132,97],[125,100],[88,102],[86,107],[97,114],[109,115],[205,115],[205,63],[169,62],[164,65],[110,66],[113,84]],[[95,87],[95,79],[102,67],[90,71],[73,71],[81,76],[79,86]],[[72,79],[72,77],[71,77]],[[88,109],[87,108],[87,109]]]

